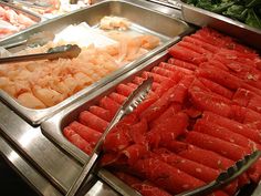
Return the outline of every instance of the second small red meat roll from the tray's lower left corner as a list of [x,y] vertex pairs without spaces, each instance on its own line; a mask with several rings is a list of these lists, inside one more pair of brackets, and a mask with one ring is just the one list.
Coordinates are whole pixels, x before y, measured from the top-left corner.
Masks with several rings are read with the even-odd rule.
[[76,121],[72,122],[69,125],[69,127],[75,131],[82,138],[88,142],[92,146],[95,146],[97,141],[102,136],[101,132],[92,130]]

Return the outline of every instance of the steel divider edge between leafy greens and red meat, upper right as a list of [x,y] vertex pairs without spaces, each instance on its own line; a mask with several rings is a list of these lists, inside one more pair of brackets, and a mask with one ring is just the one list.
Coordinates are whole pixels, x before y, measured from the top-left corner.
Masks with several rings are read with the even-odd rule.
[[218,31],[238,38],[248,45],[261,50],[261,30],[228,17],[187,4],[186,0],[181,1],[181,12],[185,21],[199,27],[209,25]]

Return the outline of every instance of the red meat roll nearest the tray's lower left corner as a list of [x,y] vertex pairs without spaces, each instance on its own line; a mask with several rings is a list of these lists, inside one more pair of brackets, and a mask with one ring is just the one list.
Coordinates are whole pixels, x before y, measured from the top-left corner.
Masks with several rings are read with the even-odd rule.
[[86,154],[92,154],[93,147],[90,143],[84,141],[76,132],[74,132],[69,126],[63,130],[64,136],[73,143],[75,146],[77,146],[80,149],[84,151]]

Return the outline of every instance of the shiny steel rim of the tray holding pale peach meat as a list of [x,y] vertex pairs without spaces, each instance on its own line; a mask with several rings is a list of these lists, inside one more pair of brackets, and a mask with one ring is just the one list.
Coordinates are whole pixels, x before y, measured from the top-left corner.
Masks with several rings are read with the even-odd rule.
[[[157,12],[161,16],[165,16],[167,18],[170,18],[170,19],[175,19],[176,21],[180,22],[184,24],[184,27],[186,27],[185,29],[185,32],[180,33],[180,34],[184,34],[184,33],[188,33],[191,29],[190,27],[185,22],[185,21],[181,21],[177,18],[174,18],[171,16],[167,16],[165,13],[161,13],[159,11],[156,11],[156,10],[152,10],[152,9],[148,9],[148,8],[145,8],[138,3],[134,3],[134,2],[130,2],[130,1],[126,1],[126,0],[105,0],[105,1],[102,1],[102,2],[98,2],[94,6],[91,6],[88,8],[92,8],[92,7],[96,7],[98,4],[102,4],[102,3],[106,3],[106,2],[111,2],[111,1],[115,1],[115,2],[122,2],[122,3],[129,3],[129,4],[133,4],[135,7],[139,7],[142,9],[146,9],[148,11],[153,11],[153,12]],[[136,1],[135,1],[136,2]],[[137,1],[139,2],[139,1]],[[143,1],[140,1],[143,2]],[[145,2],[143,2],[145,3]],[[148,3],[148,2],[147,2]],[[87,10],[88,8],[83,8],[81,10]],[[76,10],[74,12],[71,12],[69,13],[67,16],[70,14],[73,14],[77,11],[81,11],[81,10]],[[62,18],[64,16],[61,16],[61,17],[58,17],[53,20],[50,20],[50,21],[44,21],[41,23],[42,24],[45,24],[45,23],[50,23],[50,22],[53,22],[53,21],[56,21],[59,20],[60,18]],[[28,29],[30,30],[30,29]],[[106,85],[108,82],[113,81],[114,79],[116,79],[117,76],[124,74],[125,72],[134,69],[135,66],[137,66],[138,64],[147,61],[149,58],[154,56],[155,54],[166,50],[169,45],[174,44],[176,42],[177,39],[180,38],[180,34],[177,35],[177,37],[174,37],[174,38],[169,38],[169,41],[165,42],[164,44],[157,47],[156,49],[149,51],[147,54],[145,54],[144,56],[142,56],[140,59],[132,62],[132,63],[128,63],[127,65],[123,66],[123,68],[119,68],[118,70],[112,72],[109,75],[101,79],[100,81],[93,83],[92,85],[81,90],[80,92],[73,94],[72,96],[65,99],[64,101],[62,101],[61,103],[54,105],[54,106],[51,106],[51,107],[48,107],[48,109],[43,109],[43,110],[33,110],[33,109],[28,109],[25,106],[22,106],[20,103],[18,103],[15,101],[15,99],[9,96],[6,92],[3,92],[2,90],[0,90],[0,97],[2,100],[4,100],[4,102],[7,102],[11,107],[14,107],[14,110],[17,110],[29,123],[33,124],[33,125],[38,125],[40,124],[41,122],[45,121],[46,118],[49,118],[50,116],[52,116],[53,114],[58,113],[59,111],[63,110],[65,106],[76,102],[79,99],[81,99],[82,96],[88,94],[88,93],[92,93],[92,91],[95,91],[96,89],[103,86],[103,85]]]

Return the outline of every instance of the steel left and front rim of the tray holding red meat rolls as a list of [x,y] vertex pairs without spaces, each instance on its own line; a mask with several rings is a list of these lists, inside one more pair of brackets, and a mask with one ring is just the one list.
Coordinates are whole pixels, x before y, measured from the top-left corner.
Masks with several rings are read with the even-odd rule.
[[[98,101],[103,96],[109,94],[111,92],[114,92],[117,84],[130,82],[134,76],[139,75],[143,71],[152,70],[159,62],[166,61],[168,58],[169,54],[167,53],[167,51],[164,51],[163,53],[152,58],[149,61],[140,64],[136,69],[133,69],[132,71],[125,73],[124,75],[121,75],[119,78],[115,79],[114,81],[101,87],[96,92],[70,105],[69,107],[55,114],[48,121],[43,122],[41,124],[42,133],[51,141],[53,141],[55,144],[58,144],[58,146],[65,149],[70,155],[72,155],[79,162],[85,163],[88,158],[88,155],[82,152],[76,146],[74,146],[71,142],[69,142],[64,137],[62,130],[65,126],[67,126],[71,122],[75,121],[82,111],[87,110],[90,106],[98,103]],[[115,177],[112,173],[105,169],[100,169],[97,175],[104,182],[111,185],[115,190],[117,190],[123,195],[126,195],[126,193],[128,195],[133,195],[132,192],[135,192],[125,183]]]

